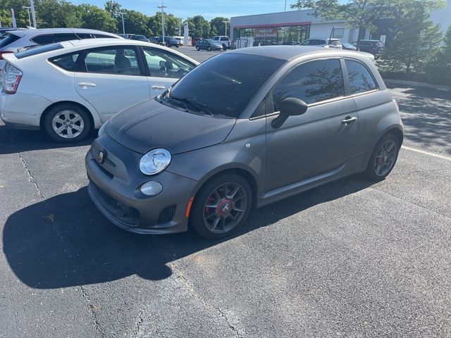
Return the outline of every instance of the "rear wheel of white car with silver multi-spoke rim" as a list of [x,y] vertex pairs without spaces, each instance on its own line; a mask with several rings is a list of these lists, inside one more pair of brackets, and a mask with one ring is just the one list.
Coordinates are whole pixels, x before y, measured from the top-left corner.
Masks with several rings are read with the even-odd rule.
[[[66,121],[64,121],[64,116],[68,117]],[[58,120],[55,122],[56,118]],[[67,125],[65,125],[66,123]],[[63,130],[58,133],[59,128],[63,128]],[[87,137],[91,129],[92,123],[88,113],[75,104],[59,104],[51,108],[44,116],[45,132],[51,139],[59,143],[80,142]]]

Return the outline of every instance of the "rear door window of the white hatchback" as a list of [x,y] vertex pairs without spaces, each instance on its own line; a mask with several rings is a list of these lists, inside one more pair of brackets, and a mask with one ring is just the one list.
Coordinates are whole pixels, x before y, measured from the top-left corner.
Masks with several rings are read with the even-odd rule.
[[85,56],[87,73],[140,75],[136,51],[133,47],[106,47],[92,49]]

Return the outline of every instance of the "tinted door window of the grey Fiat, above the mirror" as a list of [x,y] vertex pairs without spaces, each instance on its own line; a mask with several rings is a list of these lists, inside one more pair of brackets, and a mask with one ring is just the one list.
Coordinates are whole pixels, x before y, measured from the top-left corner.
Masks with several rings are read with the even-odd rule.
[[304,63],[292,69],[273,89],[274,111],[288,97],[306,104],[345,96],[340,61],[321,60]]

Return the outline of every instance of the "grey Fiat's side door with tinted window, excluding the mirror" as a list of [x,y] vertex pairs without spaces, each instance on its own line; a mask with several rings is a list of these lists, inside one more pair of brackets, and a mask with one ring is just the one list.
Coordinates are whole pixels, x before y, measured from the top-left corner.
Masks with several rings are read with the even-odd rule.
[[308,108],[276,129],[271,125],[276,114],[267,118],[266,192],[339,171],[355,154],[357,111],[354,100],[345,97],[340,64],[339,59],[302,63],[273,88],[275,112],[288,97]]

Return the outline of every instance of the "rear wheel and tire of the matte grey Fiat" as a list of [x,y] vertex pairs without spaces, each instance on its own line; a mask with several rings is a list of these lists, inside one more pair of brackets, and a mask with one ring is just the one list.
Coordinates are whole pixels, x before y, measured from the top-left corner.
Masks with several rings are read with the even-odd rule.
[[400,141],[397,137],[393,134],[386,134],[374,146],[364,176],[372,181],[384,180],[395,167],[399,151]]

